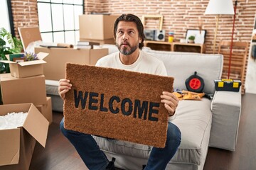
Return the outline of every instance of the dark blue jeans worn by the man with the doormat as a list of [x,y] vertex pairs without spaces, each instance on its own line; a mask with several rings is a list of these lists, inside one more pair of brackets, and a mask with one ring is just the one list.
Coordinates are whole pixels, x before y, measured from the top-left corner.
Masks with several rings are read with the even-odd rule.
[[[90,170],[103,170],[107,167],[109,160],[104,152],[95,142],[92,135],[87,135],[73,130],[66,130],[63,126],[63,120],[60,122],[60,130],[63,135],[68,138],[72,145],[74,145],[78,154],[85,162],[85,165]],[[166,165],[174,157],[178,146],[181,143],[181,131],[173,123],[168,123],[166,147],[153,147],[146,164],[145,170],[164,170]]]

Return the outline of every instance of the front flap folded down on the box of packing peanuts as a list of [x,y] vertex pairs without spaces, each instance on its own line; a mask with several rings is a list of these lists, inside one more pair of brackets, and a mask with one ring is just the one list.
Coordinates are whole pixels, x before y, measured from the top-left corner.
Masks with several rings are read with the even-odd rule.
[[20,153],[20,129],[0,130],[0,166],[18,164]]

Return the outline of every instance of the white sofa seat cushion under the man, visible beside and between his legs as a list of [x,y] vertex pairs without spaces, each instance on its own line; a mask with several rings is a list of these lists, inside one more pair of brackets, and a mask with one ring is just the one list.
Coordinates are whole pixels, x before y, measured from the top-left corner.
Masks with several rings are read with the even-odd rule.
[[[181,145],[171,162],[202,164],[206,159],[212,113],[210,100],[180,101],[176,109],[176,118],[173,123],[181,130]],[[151,146],[132,142],[111,140],[104,137],[95,137],[100,149],[105,152],[129,155],[148,159]]]

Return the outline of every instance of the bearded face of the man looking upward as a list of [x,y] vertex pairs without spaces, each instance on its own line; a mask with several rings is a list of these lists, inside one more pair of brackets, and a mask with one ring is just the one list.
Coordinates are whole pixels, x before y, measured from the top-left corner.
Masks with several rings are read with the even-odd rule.
[[122,55],[131,55],[137,50],[140,42],[142,42],[142,38],[139,37],[136,23],[119,21],[116,33],[116,43],[119,52]]

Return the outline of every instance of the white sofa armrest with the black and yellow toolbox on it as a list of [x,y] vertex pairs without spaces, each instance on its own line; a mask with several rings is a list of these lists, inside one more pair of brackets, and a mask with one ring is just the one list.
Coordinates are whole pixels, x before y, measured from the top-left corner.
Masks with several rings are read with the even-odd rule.
[[215,91],[210,147],[235,151],[241,113],[241,92]]

